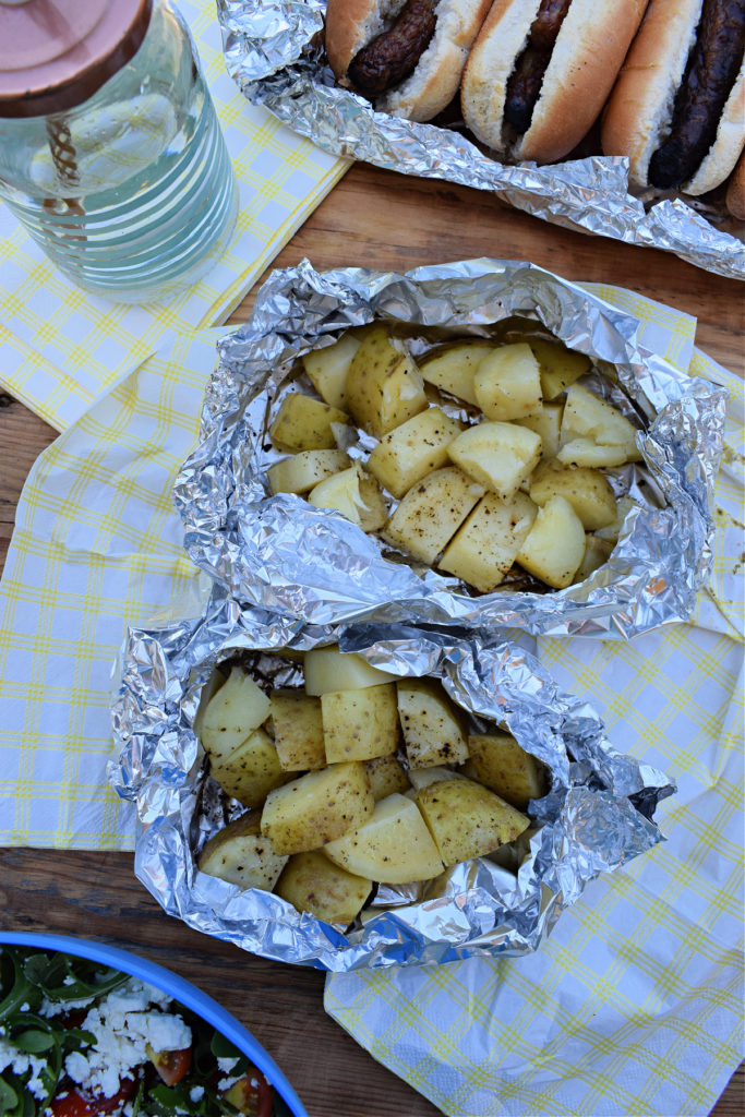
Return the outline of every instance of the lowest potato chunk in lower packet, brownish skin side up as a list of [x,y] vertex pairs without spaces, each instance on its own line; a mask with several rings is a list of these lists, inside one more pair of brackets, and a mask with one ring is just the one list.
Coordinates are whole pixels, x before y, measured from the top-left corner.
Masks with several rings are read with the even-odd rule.
[[309,850],[290,857],[275,892],[298,911],[346,927],[362,910],[372,887],[372,880],[334,865],[321,850]]

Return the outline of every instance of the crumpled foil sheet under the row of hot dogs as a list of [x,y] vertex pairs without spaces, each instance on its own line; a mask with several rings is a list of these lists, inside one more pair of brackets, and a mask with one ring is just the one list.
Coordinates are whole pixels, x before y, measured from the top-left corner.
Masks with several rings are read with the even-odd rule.
[[218,0],[226,63],[242,93],[324,151],[490,191],[553,225],[745,278],[743,223],[675,195],[633,197],[625,159],[506,166],[456,131],[375,113],[335,83],[323,50],[325,10],[325,0]]

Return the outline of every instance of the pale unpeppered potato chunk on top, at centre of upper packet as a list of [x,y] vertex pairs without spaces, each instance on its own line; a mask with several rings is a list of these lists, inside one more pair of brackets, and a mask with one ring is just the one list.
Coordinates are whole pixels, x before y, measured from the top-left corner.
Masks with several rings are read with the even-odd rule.
[[516,423],[483,422],[458,435],[448,454],[465,474],[508,500],[538,464],[541,438]]

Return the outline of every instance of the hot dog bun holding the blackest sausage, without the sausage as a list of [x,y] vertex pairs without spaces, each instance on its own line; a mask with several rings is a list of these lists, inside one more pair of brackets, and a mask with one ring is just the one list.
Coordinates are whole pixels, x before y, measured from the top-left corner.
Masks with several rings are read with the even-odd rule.
[[671,133],[676,95],[696,41],[703,6],[703,0],[651,0],[608,103],[601,133],[603,152],[629,159],[629,181],[634,187],[676,187],[688,194],[706,193],[725,181],[743,150],[745,65],[741,54],[739,71],[718,115],[716,135],[700,161],[685,180],[655,181],[655,153]]

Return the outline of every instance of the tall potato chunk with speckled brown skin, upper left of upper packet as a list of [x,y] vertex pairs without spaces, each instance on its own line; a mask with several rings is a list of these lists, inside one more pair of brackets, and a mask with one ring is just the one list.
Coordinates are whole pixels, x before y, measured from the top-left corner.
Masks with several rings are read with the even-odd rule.
[[427,407],[424,382],[403,342],[385,326],[362,340],[346,376],[346,402],[357,423],[375,438]]

